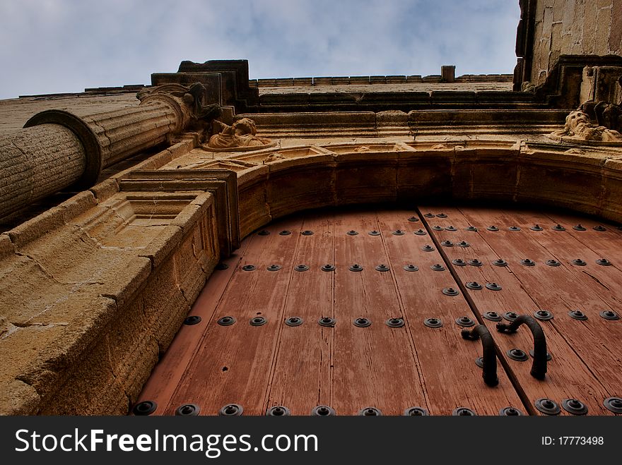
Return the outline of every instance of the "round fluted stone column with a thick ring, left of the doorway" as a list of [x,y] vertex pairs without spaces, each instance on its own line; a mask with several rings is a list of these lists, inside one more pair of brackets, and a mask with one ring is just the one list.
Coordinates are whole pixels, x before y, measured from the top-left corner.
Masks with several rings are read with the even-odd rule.
[[180,133],[201,108],[189,89],[163,85],[141,104],[78,117],[42,111],[0,138],[0,217],[61,189],[93,186],[102,169]]

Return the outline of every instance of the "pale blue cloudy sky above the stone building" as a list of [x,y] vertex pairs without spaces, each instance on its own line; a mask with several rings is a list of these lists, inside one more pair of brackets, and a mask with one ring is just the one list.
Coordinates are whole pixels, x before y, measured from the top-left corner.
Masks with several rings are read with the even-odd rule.
[[512,73],[518,0],[0,0],[0,99],[148,84],[182,60],[251,78]]

